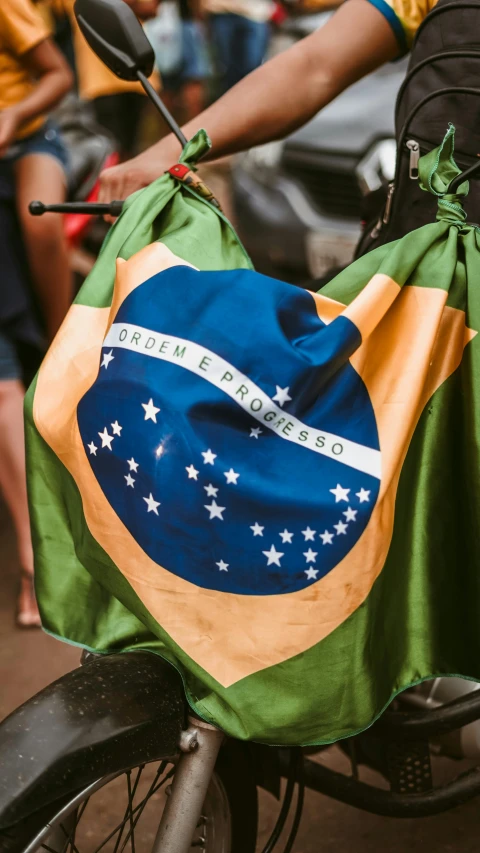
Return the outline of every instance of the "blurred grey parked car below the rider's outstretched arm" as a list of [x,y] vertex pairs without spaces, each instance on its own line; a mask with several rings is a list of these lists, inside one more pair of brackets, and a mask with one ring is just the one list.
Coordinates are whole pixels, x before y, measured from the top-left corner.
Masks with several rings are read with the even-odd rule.
[[[331,14],[287,21],[277,51]],[[379,69],[287,139],[236,159],[236,223],[259,271],[301,283],[352,259],[365,196],[393,179],[394,106],[405,71],[406,60]]]

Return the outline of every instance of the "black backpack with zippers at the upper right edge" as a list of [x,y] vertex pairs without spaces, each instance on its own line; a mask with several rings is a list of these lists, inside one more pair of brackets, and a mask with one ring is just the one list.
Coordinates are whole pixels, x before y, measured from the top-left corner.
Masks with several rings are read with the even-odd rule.
[[[439,0],[416,34],[395,108],[395,179],[356,257],[435,220],[437,201],[420,189],[417,164],[440,144],[449,122],[463,170],[480,157],[480,0]],[[480,181],[470,184],[466,211],[470,222],[480,222]]]

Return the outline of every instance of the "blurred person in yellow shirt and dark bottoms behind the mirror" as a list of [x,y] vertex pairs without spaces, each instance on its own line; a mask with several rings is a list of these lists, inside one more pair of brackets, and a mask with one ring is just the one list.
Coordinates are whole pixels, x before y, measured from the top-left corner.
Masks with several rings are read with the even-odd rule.
[[[75,0],[46,0],[58,19],[61,19],[62,14],[69,17],[80,97],[91,102],[98,124],[113,136],[121,158],[128,159],[136,153],[138,128],[146,104],[145,93],[140,83],[119,80],[88,46],[73,13],[74,2]],[[156,15],[159,4],[159,0],[124,2],[142,21]],[[151,82],[158,86],[156,75]]]

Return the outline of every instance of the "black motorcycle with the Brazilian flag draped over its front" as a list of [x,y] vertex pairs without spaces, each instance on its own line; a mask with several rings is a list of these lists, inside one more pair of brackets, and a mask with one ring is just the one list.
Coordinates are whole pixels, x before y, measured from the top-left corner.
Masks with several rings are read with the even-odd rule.
[[[143,34],[135,32],[136,19],[117,0],[82,0],[84,10],[93,10],[93,22],[99,4],[107,5],[116,21],[110,37],[116,39],[117,53],[127,57],[129,73],[144,83],[180,139],[181,131],[150,92],[148,47]],[[109,33],[99,35],[102,55],[110,50]],[[47,208],[37,203],[33,209],[39,214]],[[74,209],[114,214],[121,202],[82,203]],[[59,205],[57,210],[72,207]],[[478,720],[480,693],[472,683],[437,679],[433,687],[410,688],[367,731],[341,742],[352,769],[346,776],[313,761],[312,748],[226,739],[218,728],[189,713],[179,673],[154,654],[84,653],[82,666],[0,725],[0,853],[83,853],[93,828],[105,831],[95,853],[108,844],[114,853],[128,846],[135,853],[140,844],[153,853],[253,853],[257,788],[279,798],[282,779],[282,804],[263,853],[271,853],[280,838],[295,787],[285,853],[293,849],[306,787],[383,816],[438,814],[480,794],[480,767],[435,787],[430,744],[441,744],[452,757],[478,757],[476,738],[469,740],[472,729],[466,728]],[[460,734],[453,749],[445,739],[452,732]],[[360,765],[379,771],[390,790],[362,782]],[[122,788],[126,803],[120,799]],[[113,798],[119,810],[114,825],[104,829],[102,811],[94,808],[103,795]]]

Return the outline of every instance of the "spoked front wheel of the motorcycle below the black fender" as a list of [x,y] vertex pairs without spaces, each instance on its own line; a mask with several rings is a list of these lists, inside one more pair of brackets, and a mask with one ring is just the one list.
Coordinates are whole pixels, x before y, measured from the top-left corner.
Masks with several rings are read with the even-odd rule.
[[[1,853],[150,853],[173,759],[104,777],[0,834]],[[254,853],[257,790],[239,744],[222,750],[192,839],[198,853]]]

